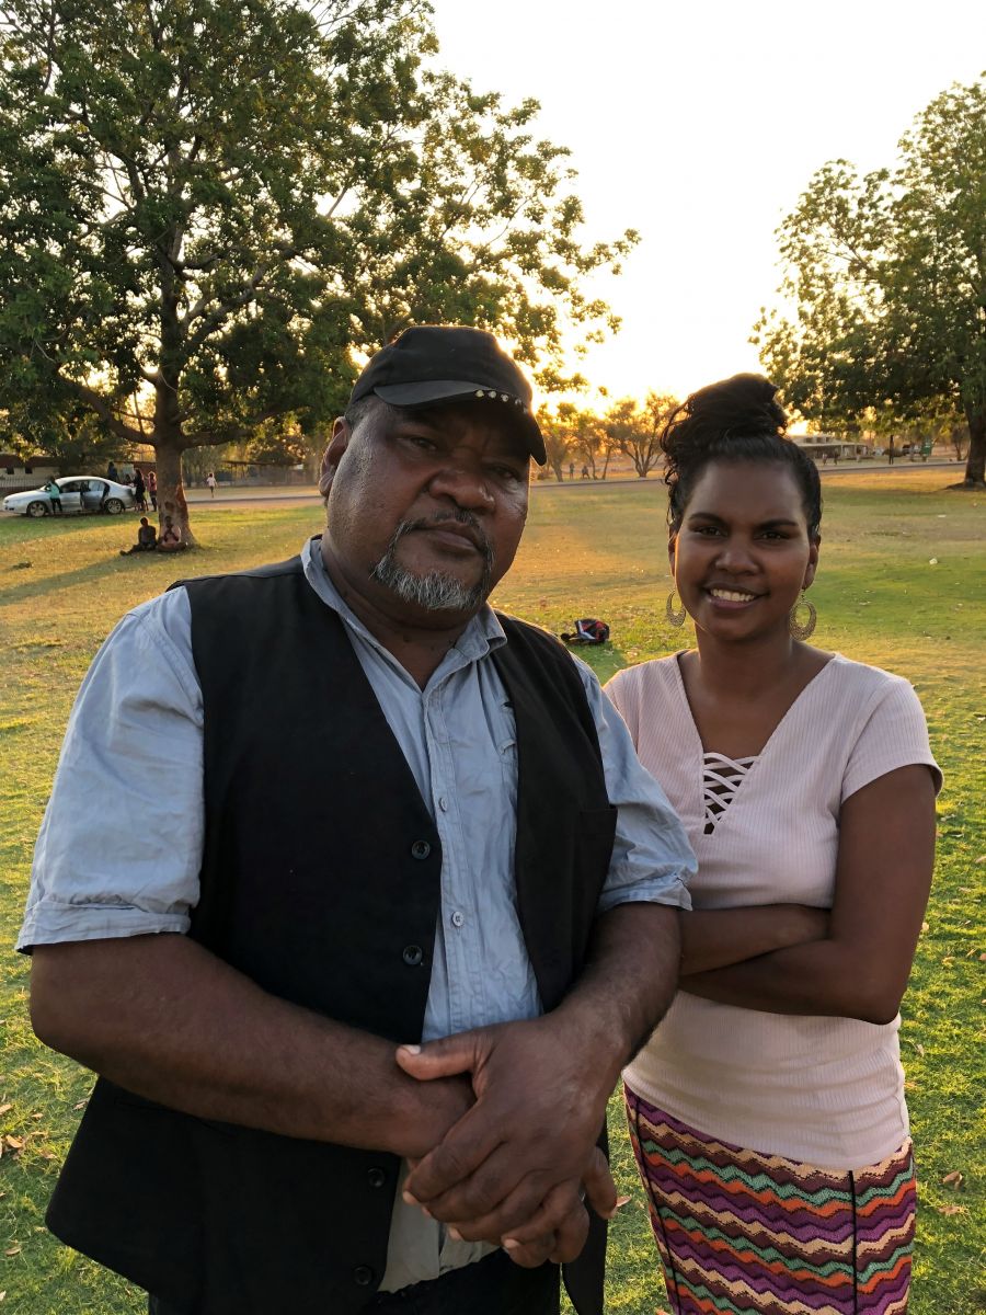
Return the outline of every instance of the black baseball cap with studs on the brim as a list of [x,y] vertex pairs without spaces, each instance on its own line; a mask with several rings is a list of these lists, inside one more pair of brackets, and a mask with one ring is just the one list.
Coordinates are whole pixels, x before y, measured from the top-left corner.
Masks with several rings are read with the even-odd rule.
[[369,394],[392,406],[485,400],[510,409],[531,456],[547,460],[531,413],[531,385],[492,333],[460,325],[417,325],[371,358],[350,406]]

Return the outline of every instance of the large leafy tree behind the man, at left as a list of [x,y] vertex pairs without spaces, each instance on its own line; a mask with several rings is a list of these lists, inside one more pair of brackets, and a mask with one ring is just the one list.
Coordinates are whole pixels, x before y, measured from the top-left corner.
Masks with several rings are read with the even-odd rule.
[[[9,0],[0,63],[0,408],[79,406],[156,451],[308,435],[406,323],[497,329],[559,370],[582,247],[567,153],[434,71],[423,0]],[[142,435],[134,414],[150,417]]]

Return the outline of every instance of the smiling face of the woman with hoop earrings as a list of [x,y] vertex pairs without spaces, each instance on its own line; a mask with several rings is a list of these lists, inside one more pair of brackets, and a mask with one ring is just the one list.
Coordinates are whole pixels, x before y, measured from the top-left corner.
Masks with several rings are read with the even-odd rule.
[[710,463],[668,551],[695,627],[728,640],[786,634],[818,564],[801,489],[780,462]]

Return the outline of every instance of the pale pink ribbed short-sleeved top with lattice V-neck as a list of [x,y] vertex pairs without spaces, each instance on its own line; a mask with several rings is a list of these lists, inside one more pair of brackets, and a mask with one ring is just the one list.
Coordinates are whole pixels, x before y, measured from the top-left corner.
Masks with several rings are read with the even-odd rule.
[[[911,685],[836,654],[707,834],[702,742],[677,656],[627,668],[606,692],[688,830],[695,909],[828,907],[843,800],[912,763],[941,784]],[[899,1022],[766,1014],[680,992],[624,1076],[644,1101],[723,1141],[858,1169],[907,1136]]]

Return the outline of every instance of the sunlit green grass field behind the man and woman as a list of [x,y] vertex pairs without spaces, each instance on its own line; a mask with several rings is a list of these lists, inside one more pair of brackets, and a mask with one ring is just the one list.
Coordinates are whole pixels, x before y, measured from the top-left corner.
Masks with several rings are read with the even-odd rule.
[[[915,1315],[986,1308],[986,497],[945,492],[940,471],[827,480],[815,642],[907,675],[945,772],[939,864],[902,1051],[919,1157]],[[277,560],[317,533],[318,505],[195,509],[205,547],[184,559],[120,558],[129,519],[0,522],[0,932],[11,945],[34,836],[78,685],[112,625],[177,575]],[[496,602],[553,631],[603,617],[602,677],[688,644],[664,621],[669,583],[657,483],[536,489],[514,569]],[[935,559],[932,564],[931,559]],[[118,823],[130,819],[121,807]],[[0,1302],[17,1315],[145,1310],[142,1294],[59,1247],[42,1215],[91,1076],[43,1049],[26,1022],[29,964],[0,959]],[[656,1277],[643,1198],[614,1107],[621,1187],[607,1308],[653,1315]],[[944,1184],[961,1173],[961,1182]]]

